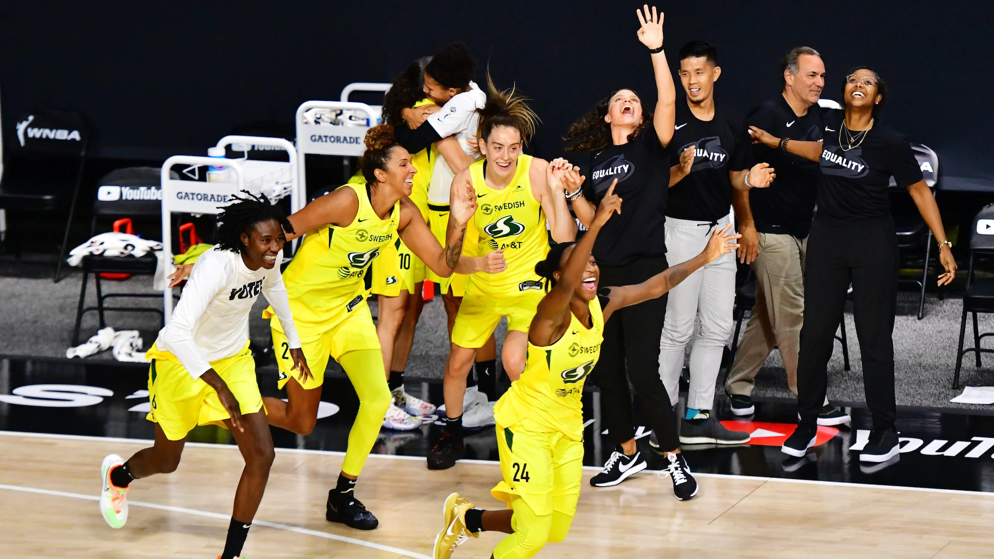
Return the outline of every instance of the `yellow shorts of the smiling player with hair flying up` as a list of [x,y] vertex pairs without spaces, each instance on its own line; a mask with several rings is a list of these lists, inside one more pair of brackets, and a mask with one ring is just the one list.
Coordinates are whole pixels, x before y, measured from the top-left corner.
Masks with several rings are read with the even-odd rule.
[[466,286],[459,313],[452,326],[452,344],[460,348],[482,348],[501,317],[507,317],[507,329],[528,332],[535,310],[546,292],[525,289],[511,295],[495,297],[480,290],[472,281]]

